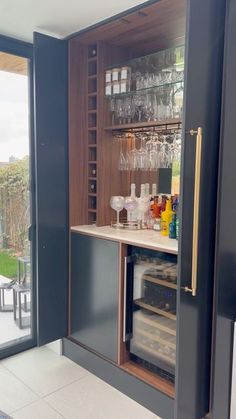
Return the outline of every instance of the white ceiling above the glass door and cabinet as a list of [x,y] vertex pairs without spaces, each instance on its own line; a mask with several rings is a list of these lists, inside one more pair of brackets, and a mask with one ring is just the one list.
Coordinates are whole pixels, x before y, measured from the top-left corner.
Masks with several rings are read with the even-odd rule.
[[0,34],[32,42],[38,31],[66,37],[144,0],[0,0]]

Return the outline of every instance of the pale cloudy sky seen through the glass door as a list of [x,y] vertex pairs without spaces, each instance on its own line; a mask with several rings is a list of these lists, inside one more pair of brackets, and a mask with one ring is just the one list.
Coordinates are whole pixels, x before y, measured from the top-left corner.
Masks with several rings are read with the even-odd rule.
[[28,77],[0,71],[0,162],[29,155]]

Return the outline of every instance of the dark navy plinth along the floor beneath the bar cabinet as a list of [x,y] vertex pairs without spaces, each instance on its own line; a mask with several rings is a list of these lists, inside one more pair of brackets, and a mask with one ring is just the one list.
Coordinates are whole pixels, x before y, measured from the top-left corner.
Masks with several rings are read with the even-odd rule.
[[63,339],[63,355],[106,381],[126,396],[163,419],[174,419],[174,399],[130,375],[118,366],[72,342]]

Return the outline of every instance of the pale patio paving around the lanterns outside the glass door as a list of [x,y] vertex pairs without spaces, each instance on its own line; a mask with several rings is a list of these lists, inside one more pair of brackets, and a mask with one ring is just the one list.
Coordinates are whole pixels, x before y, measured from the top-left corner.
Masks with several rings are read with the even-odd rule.
[[[0,284],[2,283],[10,283],[11,281],[0,275]],[[13,307],[13,290],[7,289],[4,291],[5,296],[5,305],[11,305]],[[27,295],[27,303],[29,303],[30,296]],[[17,306],[16,315],[18,318],[19,315],[19,307]],[[24,312],[22,310],[22,318],[28,317],[30,312]],[[18,325],[14,321],[14,314],[13,308],[10,312],[2,312],[0,311],[0,347],[5,346],[5,344],[9,343],[12,340],[19,339],[30,335],[30,327],[20,329]]]

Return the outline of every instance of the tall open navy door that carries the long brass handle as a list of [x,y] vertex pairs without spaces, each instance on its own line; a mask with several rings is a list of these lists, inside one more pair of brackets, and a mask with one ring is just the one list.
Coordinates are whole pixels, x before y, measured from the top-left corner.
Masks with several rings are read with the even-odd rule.
[[[181,174],[176,419],[209,411],[214,242],[220,132],[225,2],[187,1],[185,104]],[[197,291],[191,288],[196,135],[202,128]],[[196,219],[195,219],[196,222]]]

